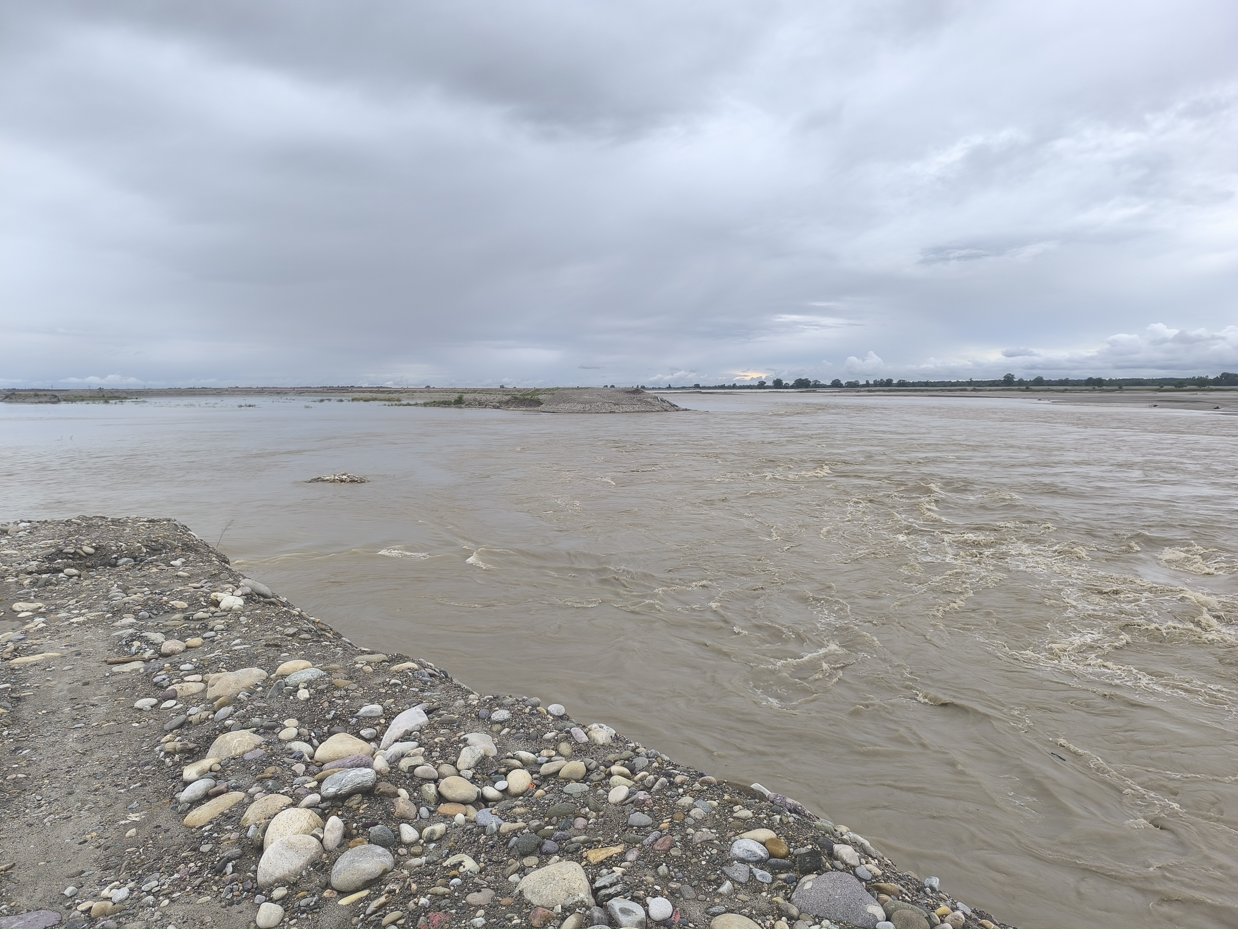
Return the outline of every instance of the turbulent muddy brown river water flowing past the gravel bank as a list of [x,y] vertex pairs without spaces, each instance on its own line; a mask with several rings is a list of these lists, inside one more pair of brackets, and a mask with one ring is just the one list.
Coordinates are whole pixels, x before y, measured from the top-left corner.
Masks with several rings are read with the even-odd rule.
[[[1036,927],[1238,924],[1238,419],[691,395],[0,406],[0,518],[175,517],[371,648]],[[308,484],[338,471],[360,486]]]

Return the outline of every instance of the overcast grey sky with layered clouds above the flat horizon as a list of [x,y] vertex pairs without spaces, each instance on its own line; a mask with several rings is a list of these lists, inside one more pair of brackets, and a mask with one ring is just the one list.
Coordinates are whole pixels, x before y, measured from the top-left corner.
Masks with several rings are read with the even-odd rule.
[[0,7],[0,385],[1238,372],[1232,0]]

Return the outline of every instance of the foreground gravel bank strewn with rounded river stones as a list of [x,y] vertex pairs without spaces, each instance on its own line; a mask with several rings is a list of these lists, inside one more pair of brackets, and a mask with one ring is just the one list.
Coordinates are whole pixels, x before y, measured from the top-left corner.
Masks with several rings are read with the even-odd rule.
[[992,929],[867,840],[342,638],[171,520],[0,526],[0,929]]

